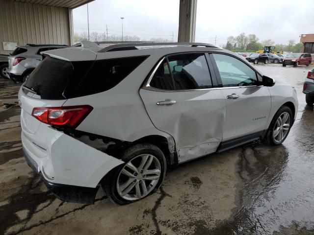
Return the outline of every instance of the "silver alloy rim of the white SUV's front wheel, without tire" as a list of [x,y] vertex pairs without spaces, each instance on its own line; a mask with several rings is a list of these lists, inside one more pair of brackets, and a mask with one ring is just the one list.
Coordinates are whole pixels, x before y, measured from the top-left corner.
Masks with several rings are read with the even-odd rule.
[[287,112],[282,113],[274,126],[273,138],[275,142],[283,141],[290,129],[290,115]]

